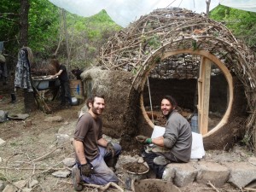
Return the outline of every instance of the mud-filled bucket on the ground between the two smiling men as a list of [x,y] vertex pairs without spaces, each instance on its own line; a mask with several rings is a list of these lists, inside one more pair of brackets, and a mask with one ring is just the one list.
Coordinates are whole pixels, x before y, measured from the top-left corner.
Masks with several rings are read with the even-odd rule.
[[129,166],[130,165],[128,165],[128,166],[127,165],[128,164],[125,164],[123,166],[123,169],[125,171],[124,172],[125,188],[131,190],[134,181],[146,178],[146,173],[149,171],[149,167],[148,167],[148,164],[146,162],[144,162],[144,163],[131,162],[130,163],[131,166],[139,166],[139,165],[141,165],[141,166],[145,166],[146,167],[145,171],[143,171],[143,172],[131,172],[129,170]]

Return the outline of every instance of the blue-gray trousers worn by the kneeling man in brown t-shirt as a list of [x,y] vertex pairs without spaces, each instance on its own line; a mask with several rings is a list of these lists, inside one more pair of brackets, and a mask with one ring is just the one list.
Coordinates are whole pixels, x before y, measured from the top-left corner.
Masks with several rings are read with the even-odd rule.
[[[113,148],[115,149],[115,156],[118,157],[121,153],[121,146],[117,143],[113,143]],[[93,166],[93,174],[90,177],[85,177],[82,175],[82,180],[85,183],[92,183],[98,185],[104,185],[109,182],[118,183],[119,178],[114,174],[114,172],[106,165],[104,158],[111,156],[112,153],[108,153],[106,148],[99,146],[100,153],[96,159],[90,161]],[[78,165],[76,165],[78,166]]]

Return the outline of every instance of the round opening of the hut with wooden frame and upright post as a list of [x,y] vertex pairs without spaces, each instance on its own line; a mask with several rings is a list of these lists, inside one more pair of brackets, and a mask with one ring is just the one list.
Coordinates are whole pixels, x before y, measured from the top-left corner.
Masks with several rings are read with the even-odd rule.
[[188,119],[192,131],[204,137],[227,122],[233,100],[232,77],[224,63],[207,51],[166,54],[151,66],[144,82],[141,108],[152,128],[166,125],[160,109],[166,95],[176,99],[177,111]]

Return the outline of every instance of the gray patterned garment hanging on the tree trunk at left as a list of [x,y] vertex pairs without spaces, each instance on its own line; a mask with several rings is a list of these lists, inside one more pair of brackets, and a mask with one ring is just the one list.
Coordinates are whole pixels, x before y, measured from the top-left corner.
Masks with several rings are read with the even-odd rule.
[[27,89],[27,92],[32,92],[30,61],[26,48],[22,48],[18,54],[18,62],[15,69],[15,87]]

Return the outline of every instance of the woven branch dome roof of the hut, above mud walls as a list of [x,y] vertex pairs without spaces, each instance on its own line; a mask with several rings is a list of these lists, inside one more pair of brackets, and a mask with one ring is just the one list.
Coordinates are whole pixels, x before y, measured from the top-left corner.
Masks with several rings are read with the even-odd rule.
[[[206,15],[187,9],[156,9],[109,38],[102,46],[98,65],[133,73],[132,87],[142,90],[148,75],[159,79],[196,79],[200,50],[217,57],[244,84],[250,112],[247,127],[253,128],[256,117],[255,56],[226,26]],[[173,51],[175,55],[166,56]],[[218,68],[215,72],[219,72]]]

